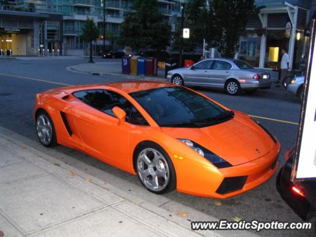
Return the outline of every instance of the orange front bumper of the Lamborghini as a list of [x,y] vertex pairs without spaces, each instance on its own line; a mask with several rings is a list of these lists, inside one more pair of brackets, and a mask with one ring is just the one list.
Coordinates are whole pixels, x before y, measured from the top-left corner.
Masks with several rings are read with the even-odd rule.
[[[184,170],[178,172],[179,169],[177,169],[177,190],[191,195],[214,198],[228,198],[242,194],[263,184],[273,176],[277,170],[279,152],[280,144],[277,142],[276,146],[261,158],[216,170],[206,165],[194,164],[192,161],[190,174],[184,174]],[[189,162],[188,159],[187,161]],[[193,173],[192,170],[196,172]],[[182,175],[185,177],[181,177]],[[225,178],[241,176],[246,176],[246,179],[238,190],[220,189]]]

